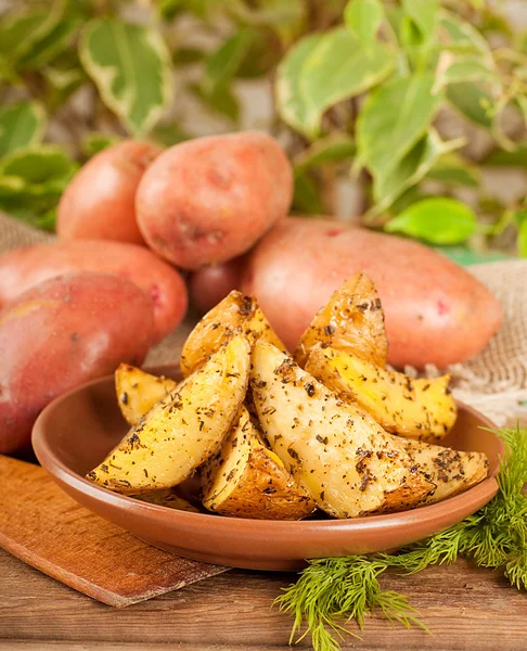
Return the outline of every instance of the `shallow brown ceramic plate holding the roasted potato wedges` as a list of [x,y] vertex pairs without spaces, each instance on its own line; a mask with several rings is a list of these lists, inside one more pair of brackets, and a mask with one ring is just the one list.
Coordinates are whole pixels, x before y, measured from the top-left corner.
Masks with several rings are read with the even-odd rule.
[[[153,372],[178,378],[176,367]],[[446,445],[486,452],[490,476],[462,495],[413,511],[355,520],[273,522],[175,511],[140,502],[87,482],[127,431],[113,378],[54,400],[35,424],[33,445],[40,463],[76,501],[139,538],[190,559],[255,570],[296,570],[304,559],[395,549],[460,522],[497,493],[501,442],[481,427],[490,423],[460,405]]]

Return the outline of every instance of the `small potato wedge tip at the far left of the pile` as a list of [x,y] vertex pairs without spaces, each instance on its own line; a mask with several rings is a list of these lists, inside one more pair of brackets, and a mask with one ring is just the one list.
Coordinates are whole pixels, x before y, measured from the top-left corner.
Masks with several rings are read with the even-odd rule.
[[170,378],[151,375],[129,363],[115,371],[115,393],[129,425],[136,425],[152,407],[177,387]]

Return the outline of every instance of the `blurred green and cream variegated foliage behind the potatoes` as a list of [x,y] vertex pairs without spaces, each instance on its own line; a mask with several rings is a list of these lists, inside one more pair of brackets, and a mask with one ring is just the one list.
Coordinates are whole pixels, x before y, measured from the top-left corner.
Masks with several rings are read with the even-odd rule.
[[527,256],[527,31],[505,2],[1,2],[17,218],[53,230],[78,166],[118,139],[256,127],[292,158],[297,213]]

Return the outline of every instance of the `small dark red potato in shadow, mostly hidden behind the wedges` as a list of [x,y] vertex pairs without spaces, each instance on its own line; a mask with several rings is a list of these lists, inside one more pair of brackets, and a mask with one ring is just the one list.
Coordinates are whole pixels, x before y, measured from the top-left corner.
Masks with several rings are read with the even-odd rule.
[[189,277],[189,293],[191,303],[204,315],[218,305],[232,290],[239,290],[245,256],[240,256],[222,263],[203,267]]

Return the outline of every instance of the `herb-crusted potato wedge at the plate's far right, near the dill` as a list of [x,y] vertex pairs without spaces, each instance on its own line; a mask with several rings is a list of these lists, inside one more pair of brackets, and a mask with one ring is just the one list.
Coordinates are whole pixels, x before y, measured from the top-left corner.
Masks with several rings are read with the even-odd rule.
[[419,472],[436,485],[424,503],[453,497],[487,477],[489,460],[483,452],[461,452],[411,439],[403,441],[403,446],[419,465]]

